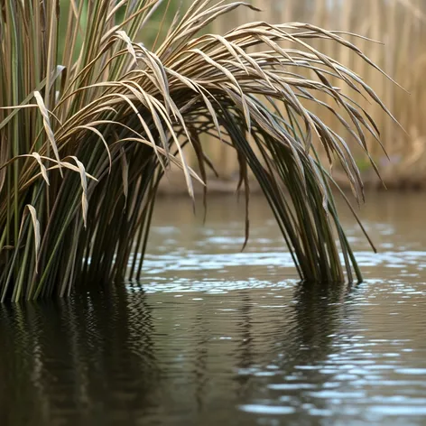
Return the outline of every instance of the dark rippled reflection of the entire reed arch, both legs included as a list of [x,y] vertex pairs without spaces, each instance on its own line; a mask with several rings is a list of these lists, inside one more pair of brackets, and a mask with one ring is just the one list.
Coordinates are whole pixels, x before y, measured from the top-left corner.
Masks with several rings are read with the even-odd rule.
[[[287,312],[265,327],[270,315],[258,311],[250,290],[241,291],[237,304],[234,298],[227,301],[236,305],[235,317],[227,319],[230,328],[220,321],[215,324],[212,312],[199,306],[191,313],[188,334],[177,336],[171,347],[167,323],[173,323],[174,314],[181,318],[181,311],[164,301],[169,330],[155,330],[149,298],[135,285],[75,294],[69,301],[4,306],[0,336],[7,350],[0,355],[1,424],[200,424],[207,412],[205,424],[232,417],[247,424],[251,421],[245,412],[296,412],[290,405],[283,407],[282,398],[278,406],[268,396],[259,399],[258,393],[286,390],[293,393],[293,405],[297,398],[305,403],[300,391],[306,385],[297,382],[297,366],[315,365],[329,356],[329,336],[336,329],[342,294],[336,288],[300,285]],[[230,335],[225,340],[236,340],[233,350],[221,353],[214,347],[218,329]],[[190,354],[181,345],[191,346]],[[219,380],[218,373],[224,375]],[[274,384],[277,373],[290,385]],[[258,383],[263,376],[269,379],[264,390]],[[180,383],[189,384],[188,394]],[[260,403],[239,404],[249,400]]]

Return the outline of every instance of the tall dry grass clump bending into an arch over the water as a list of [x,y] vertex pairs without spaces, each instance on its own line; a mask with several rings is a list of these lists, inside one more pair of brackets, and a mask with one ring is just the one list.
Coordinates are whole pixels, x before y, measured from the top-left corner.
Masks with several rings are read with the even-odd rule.
[[[3,3],[1,300],[137,279],[162,176],[171,164],[180,167],[193,197],[193,181],[204,184],[214,168],[201,134],[236,150],[247,237],[251,170],[301,277],[338,282],[346,271],[360,280],[317,143],[362,199],[357,164],[305,102],[336,116],[365,153],[366,134],[378,139],[375,123],[341,88],[387,110],[357,74],[310,42],[329,40],[375,64],[345,34],[304,23],[246,23],[225,36],[199,35],[221,15],[255,12],[218,0],[193,1],[148,49],[139,40],[161,3],[71,0],[61,49],[58,2]],[[285,42],[292,47],[282,49]],[[196,153],[198,171],[184,147]]]

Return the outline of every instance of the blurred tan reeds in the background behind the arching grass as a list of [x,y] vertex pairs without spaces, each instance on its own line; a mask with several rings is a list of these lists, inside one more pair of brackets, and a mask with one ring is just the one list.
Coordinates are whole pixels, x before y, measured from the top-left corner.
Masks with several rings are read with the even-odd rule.
[[[426,0],[251,0],[249,3],[262,12],[238,9],[235,14],[219,18],[212,30],[223,34],[249,21],[304,22],[329,30],[354,32],[380,42],[347,36],[347,40],[356,43],[406,91],[337,43],[324,40],[313,45],[362,76],[403,126],[405,132],[385,115],[380,106],[366,108],[379,126],[390,158],[389,161],[375,141],[370,141],[372,156],[386,186],[426,187]],[[367,103],[361,96],[357,97],[357,102],[361,106]],[[333,121],[331,114],[324,116],[324,108],[319,111],[313,104],[310,108],[313,113],[318,111],[320,118],[333,125],[340,134],[346,135],[353,149],[350,135],[345,134],[336,120]],[[345,115],[342,113],[342,116]],[[237,162],[233,150],[216,140],[208,140],[206,144],[220,178],[231,181],[236,178]],[[366,185],[381,186],[366,157],[360,151],[355,153]],[[333,170],[333,174],[339,181],[338,169]]]

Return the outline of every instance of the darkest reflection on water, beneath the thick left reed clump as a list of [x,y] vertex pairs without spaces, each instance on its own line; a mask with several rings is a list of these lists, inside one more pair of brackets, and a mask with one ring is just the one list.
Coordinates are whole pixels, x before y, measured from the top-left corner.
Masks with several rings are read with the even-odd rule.
[[140,288],[1,307],[0,336],[1,424],[134,422],[156,406],[162,382]]

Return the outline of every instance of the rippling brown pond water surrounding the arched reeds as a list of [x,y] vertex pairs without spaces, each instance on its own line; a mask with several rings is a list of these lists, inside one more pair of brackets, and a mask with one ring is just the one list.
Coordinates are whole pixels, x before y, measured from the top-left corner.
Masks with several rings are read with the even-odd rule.
[[0,308],[0,425],[426,425],[425,211],[370,196],[381,253],[347,215],[366,282],[328,288],[262,199],[244,254],[234,199],[160,200],[143,282]]

